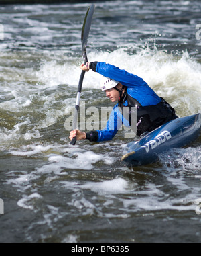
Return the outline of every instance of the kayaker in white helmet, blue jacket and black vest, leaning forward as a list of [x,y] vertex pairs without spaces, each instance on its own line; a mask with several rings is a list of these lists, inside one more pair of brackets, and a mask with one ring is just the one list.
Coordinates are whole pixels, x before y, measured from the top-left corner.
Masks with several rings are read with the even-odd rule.
[[162,124],[178,118],[174,108],[159,97],[141,77],[105,62],[86,62],[86,65],[82,64],[80,68],[83,71],[92,69],[103,75],[102,91],[105,91],[112,102],[118,101],[118,103],[113,108],[104,130],[90,132],[72,130],[70,140],[74,136],[76,140],[88,139],[94,142],[111,140],[122,124],[126,126],[131,124],[131,111],[128,111],[127,115],[129,120],[124,118],[124,109],[131,110],[131,107],[137,108],[137,136],[151,132]]

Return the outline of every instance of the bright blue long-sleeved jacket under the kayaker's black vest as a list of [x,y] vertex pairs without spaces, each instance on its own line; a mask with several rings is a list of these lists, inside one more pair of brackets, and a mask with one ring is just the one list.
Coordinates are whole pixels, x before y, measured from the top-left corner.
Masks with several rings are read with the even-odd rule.
[[[105,77],[115,79],[122,85],[125,85],[127,87],[127,93],[134,99],[137,99],[142,106],[157,105],[157,103],[161,101],[161,98],[149,87],[149,85],[147,85],[145,81],[143,81],[141,77],[133,75],[124,69],[119,69],[118,67],[106,64],[105,62],[97,62],[96,72]],[[125,101],[123,105],[127,106],[127,101]],[[123,117],[117,103],[111,112],[105,129],[97,131],[97,142],[111,140],[119,128],[121,128],[122,124],[128,127],[129,121]]]

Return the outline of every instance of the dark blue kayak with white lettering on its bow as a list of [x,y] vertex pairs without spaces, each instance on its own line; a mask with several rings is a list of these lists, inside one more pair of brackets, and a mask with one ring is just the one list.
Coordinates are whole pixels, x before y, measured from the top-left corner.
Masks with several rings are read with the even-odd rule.
[[129,166],[153,163],[157,161],[159,153],[188,145],[198,138],[200,132],[200,113],[176,118],[149,132],[137,142],[129,142],[121,160]]

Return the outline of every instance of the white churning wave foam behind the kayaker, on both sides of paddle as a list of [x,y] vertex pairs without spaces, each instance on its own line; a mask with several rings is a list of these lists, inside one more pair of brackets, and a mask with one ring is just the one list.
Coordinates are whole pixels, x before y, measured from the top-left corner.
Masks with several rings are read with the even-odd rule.
[[[129,49],[131,50],[131,49]],[[186,113],[200,111],[201,65],[184,52],[182,56],[173,56],[155,47],[138,50],[137,54],[128,54],[127,48],[113,52],[90,52],[89,61],[109,62],[121,69],[142,77],[161,96],[172,101],[173,105],[186,105]],[[122,60],[124,60],[122,62]],[[81,64],[82,60],[80,60]],[[75,87],[80,77],[78,63],[60,65],[55,61],[45,62],[36,73],[38,80],[47,87],[67,83]],[[83,89],[99,89],[100,75],[90,71],[84,77]],[[196,93],[195,93],[196,92]],[[174,96],[173,96],[174,95]],[[183,102],[183,104],[182,104]]]

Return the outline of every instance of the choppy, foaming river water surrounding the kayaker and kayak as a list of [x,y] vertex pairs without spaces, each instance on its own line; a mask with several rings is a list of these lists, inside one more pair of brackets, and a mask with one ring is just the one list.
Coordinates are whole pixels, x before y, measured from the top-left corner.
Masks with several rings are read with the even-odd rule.
[[[132,168],[124,131],[69,145],[90,4],[0,6],[0,241],[200,242],[201,138]],[[98,1],[88,60],[143,77],[178,116],[201,112],[200,10],[198,0]],[[84,77],[82,127],[113,106],[99,78]]]

